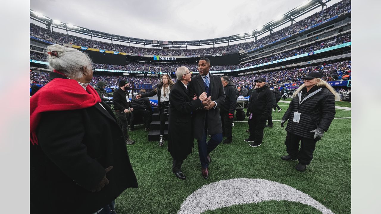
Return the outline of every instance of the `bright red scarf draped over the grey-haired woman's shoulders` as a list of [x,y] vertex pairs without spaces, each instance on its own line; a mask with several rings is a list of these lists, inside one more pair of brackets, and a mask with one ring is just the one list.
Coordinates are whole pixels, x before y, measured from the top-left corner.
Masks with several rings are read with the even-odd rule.
[[98,102],[101,98],[90,85],[85,91],[77,80],[54,78],[30,98],[30,141],[38,145],[35,131],[42,112],[85,109]]

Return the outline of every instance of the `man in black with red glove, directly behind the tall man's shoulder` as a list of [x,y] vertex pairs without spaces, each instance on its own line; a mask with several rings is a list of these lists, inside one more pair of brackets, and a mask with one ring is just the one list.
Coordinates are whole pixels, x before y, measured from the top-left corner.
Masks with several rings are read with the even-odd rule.
[[230,144],[232,142],[232,123],[234,120],[235,106],[237,105],[237,98],[235,97],[235,89],[233,84],[229,81],[229,77],[221,77],[222,85],[225,91],[225,102],[219,108],[221,113],[221,122],[223,128],[223,135],[226,139],[224,144]]

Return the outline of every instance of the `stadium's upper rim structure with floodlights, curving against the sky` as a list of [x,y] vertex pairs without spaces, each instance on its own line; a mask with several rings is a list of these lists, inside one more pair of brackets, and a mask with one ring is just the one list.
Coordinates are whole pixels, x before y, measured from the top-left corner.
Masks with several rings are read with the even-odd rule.
[[283,24],[286,24],[288,22],[291,22],[293,24],[296,18],[299,16],[303,16],[306,13],[309,13],[312,10],[315,10],[316,8],[322,7],[322,10],[324,9],[324,6],[327,6],[325,3],[330,2],[331,0],[307,0],[303,4],[297,6],[296,8],[288,11],[287,13],[277,17],[276,19],[264,24],[263,26],[259,26],[257,29],[245,33],[245,34],[236,34],[231,35],[227,37],[220,37],[220,38],[213,38],[213,39],[205,39],[205,40],[192,40],[192,41],[159,41],[159,40],[147,40],[147,39],[141,39],[141,38],[132,38],[132,37],[126,37],[126,36],[120,36],[120,35],[114,35],[109,34],[105,32],[101,32],[98,30],[91,30],[85,27],[80,26],[74,26],[72,24],[60,22],[57,20],[50,19],[36,11],[30,10],[30,19],[33,19],[37,22],[40,22],[42,24],[46,25],[46,28],[49,30],[54,31],[54,27],[62,30],[66,30],[66,33],[68,34],[68,31],[75,32],[78,34],[88,35],[91,37],[96,38],[102,38],[112,41],[119,41],[119,42],[126,42],[130,45],[130,43],[133,44],[140,44],[144,45],[144,47],[152,46],[152,47],[187,47],[187,46],[201,46],[202,45],[214,45],[220,44],[220,43],[229,43],[240,41],[240,40],[248,40],[253,39],[255,41],[258,36],[266,34],[267,32],[270,32],[272,34],[274,32],[274,29],[277,27],[282,26]]

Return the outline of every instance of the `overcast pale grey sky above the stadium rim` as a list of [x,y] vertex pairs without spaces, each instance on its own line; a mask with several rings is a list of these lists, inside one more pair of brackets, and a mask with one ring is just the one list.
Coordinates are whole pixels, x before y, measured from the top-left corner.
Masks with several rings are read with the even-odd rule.
[[[339,1],[332,0],[327,5]],[[30,9],[54,20],[110,34],[189,41],[250,32],[303,2],[305,0],[30,0]],[[319,10],[321,7],[309,15]]]

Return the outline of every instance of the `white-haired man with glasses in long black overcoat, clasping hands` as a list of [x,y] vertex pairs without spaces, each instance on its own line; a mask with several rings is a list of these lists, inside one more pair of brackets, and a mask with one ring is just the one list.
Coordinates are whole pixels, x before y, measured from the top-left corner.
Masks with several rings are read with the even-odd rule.
[[179,179],[186,179],[181,171],[182,161],[193,148],[192,112],[210,103],[207,93],[200,93],[199,98],[190,97],[187,84],[191,81],[191,72],[182,66],[176,70],[178,81],[172,86],[169,94],[168,152],[173,158],[172,171]]

